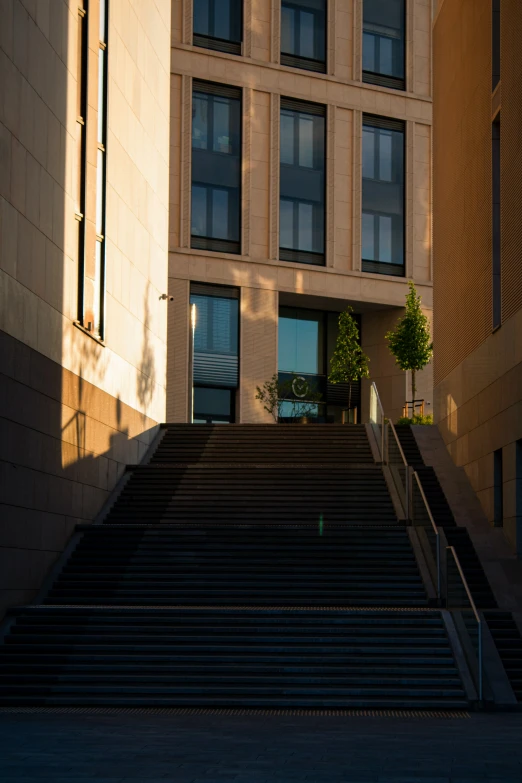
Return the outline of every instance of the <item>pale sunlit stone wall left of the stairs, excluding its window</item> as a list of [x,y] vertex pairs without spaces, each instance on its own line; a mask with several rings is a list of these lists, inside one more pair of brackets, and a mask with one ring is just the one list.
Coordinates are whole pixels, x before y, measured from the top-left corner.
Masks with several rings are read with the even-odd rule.
[[0,7],[0,613],[30,600],[165,411],[170,2],[110,2],[103,343],[75,325],[77,25],[63,0]]

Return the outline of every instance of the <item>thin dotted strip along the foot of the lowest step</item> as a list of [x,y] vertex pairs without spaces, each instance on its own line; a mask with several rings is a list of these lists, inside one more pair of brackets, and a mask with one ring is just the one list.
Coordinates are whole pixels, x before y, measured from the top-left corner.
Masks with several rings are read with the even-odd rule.
[[260,717],[329,717],[329,718],[444,718],[463,720],[470,717],[462,710],[306,710],[306,709],[219,709],[206,707],[0,707],[4,713],[54,713],[75,715],[252,715]]

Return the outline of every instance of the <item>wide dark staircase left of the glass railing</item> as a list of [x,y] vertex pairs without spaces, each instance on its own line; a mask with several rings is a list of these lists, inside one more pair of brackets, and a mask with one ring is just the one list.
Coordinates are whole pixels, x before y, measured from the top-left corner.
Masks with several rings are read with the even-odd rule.
[[1,706],[389,707],[468,700],[362,426],[167,426],[40,605]]

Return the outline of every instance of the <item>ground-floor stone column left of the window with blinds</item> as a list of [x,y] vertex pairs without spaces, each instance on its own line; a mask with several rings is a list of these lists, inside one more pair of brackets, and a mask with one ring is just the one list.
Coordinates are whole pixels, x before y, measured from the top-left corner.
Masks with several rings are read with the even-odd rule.
[[167,421],[189,420],[190,282],[169,279],[167,321]]

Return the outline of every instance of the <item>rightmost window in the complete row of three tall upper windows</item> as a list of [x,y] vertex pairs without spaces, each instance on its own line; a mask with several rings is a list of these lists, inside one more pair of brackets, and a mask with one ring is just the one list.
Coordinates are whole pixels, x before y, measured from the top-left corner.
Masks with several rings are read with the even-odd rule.
[[404,275],[404,124],[364,115],[362,270]]

